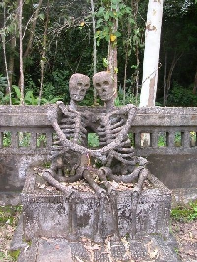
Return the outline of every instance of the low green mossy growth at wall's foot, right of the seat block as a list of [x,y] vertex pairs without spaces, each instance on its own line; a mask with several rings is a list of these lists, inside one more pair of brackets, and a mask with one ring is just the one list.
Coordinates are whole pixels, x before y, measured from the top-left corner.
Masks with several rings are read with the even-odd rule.
[[197,219],[197,201],[190,202],[189,208],[177,207],[171,210],[171,219],[180,222],[188,222]]

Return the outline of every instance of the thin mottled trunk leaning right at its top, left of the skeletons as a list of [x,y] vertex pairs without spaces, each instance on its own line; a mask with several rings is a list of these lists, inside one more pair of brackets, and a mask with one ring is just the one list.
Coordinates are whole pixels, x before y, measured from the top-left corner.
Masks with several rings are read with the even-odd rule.
[[42,97],[42,87],[43,87],[43,79],[44,79],[44,64],[45,64],[45,55],[46,55],[46,41],[47,41],[47,27],[48,27],[48,22],[49,22],[49,3],[50,0],[48,0],[47,3],[47,14],[46,14],[46,22],[44,26],[44,43],[43,43],[43,52],[42,52],[42,57],[40,60],[40,65],[41,65],[41,83],[40,83],[40,92],[39,92],[39,101],[38,101],[38,106],[40,105],[41,102],[41,97]]

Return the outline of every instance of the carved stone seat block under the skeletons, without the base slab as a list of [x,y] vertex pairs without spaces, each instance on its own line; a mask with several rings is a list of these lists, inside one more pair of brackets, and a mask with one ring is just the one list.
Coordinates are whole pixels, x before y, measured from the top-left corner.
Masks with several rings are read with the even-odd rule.
[[[157,233],[164,238],[169,234],[171,191],[154,175],[149,174],[152,188],[142,190],[137,205],[137,238]],[[40,189],[37,184],[46,183],[32,168],[27,175],[21,194],[23,204],[24,233],[26,241],[34,237],[69,239],[69,201],[57,190]],[[76,194],[76,223],[79,237],[94,239],[99,205],[104,205],[102,237],[113,232],[110,201],[105,198],[100,203],[96,194],[80,192]],[[121,237],[131,233],[132,190],[117,192],[118,229]]]

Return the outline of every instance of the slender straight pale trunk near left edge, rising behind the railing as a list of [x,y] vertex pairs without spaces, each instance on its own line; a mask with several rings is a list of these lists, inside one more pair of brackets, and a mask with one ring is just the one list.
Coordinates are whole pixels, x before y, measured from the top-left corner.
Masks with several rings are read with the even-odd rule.
[[20,58],[20,90],[21,90],[21,105],[24,105],[24,74],[23,74],[23,0],[19,0],[19,58]]

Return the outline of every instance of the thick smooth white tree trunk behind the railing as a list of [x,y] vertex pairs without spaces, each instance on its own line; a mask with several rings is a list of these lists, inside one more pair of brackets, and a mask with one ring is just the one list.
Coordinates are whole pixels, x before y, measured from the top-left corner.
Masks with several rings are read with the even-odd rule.
[[155,105],[163,0],[149,0],[140,106]]

